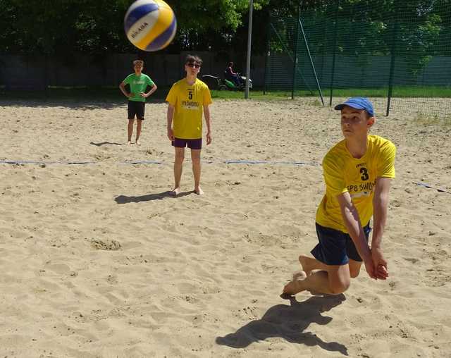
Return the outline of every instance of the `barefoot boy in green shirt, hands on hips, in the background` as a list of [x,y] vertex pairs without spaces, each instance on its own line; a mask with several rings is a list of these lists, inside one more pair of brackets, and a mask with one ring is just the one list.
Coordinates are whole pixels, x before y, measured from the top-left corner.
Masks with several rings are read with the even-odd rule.
[[[144,68],[144,61],[133,61],[133,68],[135,73],[128,75],[125,80],[121,82],[119,88],[125,97],[128,97],[128,142],[132,144],[133,123],[135,122],[135,116],[137,118],[136,123],[136,141],[137,145],[140,145],[140,135],[142,128],[142,121],[144,121],[144,106],[146,104],[146,98],[156,91],[156,85],[148,75],[142,73]],[[125,90],[125,85],[130,85],[130,93]],[[150,86],[149,92],[145,92],[147,86]]]

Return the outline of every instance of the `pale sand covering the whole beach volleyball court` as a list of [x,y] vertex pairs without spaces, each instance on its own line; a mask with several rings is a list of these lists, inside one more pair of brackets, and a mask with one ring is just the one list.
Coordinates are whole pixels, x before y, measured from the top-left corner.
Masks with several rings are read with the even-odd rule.
[[140,146],[123,103],[0,113],[1,357],[451,357],[450,125],[393,111],[372,129],[397,145],[388,280],[283,300],[317,242],[330,107],[215,101],[205,195],[187,153],[177,198],[166,104]]

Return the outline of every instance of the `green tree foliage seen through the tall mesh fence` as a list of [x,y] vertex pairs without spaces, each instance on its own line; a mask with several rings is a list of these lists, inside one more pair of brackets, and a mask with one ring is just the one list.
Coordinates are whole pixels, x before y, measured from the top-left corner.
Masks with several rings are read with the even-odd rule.
[[[434,55],[451,56],[451,0],[332,0],[312,6],[300,16],[314,56],[335,51],[368,68],[373,56],[395,53],[413,77]],[[295,13],[273,11],[271,51],[294,53]]]

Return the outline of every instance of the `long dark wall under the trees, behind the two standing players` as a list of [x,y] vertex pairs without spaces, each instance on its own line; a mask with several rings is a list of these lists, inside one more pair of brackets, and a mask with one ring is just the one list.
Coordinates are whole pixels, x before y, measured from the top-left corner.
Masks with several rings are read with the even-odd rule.
[[[183,63],[187,54],[143,54],[143,72],[156,85],[172,85],[185,75]],[[204,61],[199,77],[223,74],[228,62],[224,56],[210,52],[196,54]],[[0,54],[0,85],[12,90],[44,90],[47,86],[118,86],[125,76],[133,72],[132,61],[136,58],[135,54],[111,54],[100,59],[74,54],[70,60],[60,60],[45,56]],[[244,63],[243,66],[237,64],[236,68],[245,72]],[[263,85],[264,56],[252,58],[251,78],[254,85]]]

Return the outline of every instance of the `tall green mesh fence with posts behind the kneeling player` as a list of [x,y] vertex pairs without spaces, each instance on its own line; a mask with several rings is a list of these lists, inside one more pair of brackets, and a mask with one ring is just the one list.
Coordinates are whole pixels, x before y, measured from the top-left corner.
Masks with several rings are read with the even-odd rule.
[[[309,51],[307,51],[309,49]],[[268,25],[265,91],[450,116],[450,0],[333,0]]]

